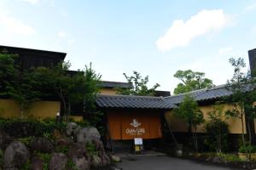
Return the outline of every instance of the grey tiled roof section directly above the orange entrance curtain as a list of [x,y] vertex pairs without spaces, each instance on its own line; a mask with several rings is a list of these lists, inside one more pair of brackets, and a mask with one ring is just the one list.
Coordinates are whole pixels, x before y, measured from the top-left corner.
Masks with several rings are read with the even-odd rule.
[[99,95],[96,104],[107,108],[172,109],[174,107],[161,97],[131,95]]

